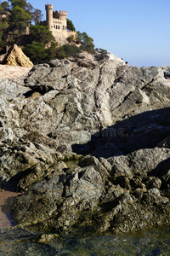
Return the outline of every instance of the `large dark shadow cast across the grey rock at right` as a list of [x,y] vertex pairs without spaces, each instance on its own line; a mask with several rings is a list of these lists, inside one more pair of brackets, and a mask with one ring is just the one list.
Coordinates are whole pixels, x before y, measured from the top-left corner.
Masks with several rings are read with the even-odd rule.
[[101,129],[87,144],[72,145],[77,154],[96,157],[130,154],[142,148],[155,148],[170,134],[170,108],[139,113]]

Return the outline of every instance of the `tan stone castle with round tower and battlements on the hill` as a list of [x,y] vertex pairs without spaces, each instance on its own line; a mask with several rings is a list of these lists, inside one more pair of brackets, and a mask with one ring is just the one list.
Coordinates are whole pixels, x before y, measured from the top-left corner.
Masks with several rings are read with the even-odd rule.
[[71,35],[76,36],[77,32],[67,30],[67,12],[54,11],[53,4],[46,4],[46,20],[42,21],[42,25],[49,26],[49,31],[54,35],[55,40],[60,44],[68,44],[66,38]]

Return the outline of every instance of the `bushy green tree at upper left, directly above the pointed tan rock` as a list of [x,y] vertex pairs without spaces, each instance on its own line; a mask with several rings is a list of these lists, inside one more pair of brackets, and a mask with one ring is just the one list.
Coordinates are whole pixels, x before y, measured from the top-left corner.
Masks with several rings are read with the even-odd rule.
[[30,21],[31,21],[31,13],[29,11],[25,11],[19,6],[15,6],[11,10],[9,25],[12,30],[25,28],[30,24]]

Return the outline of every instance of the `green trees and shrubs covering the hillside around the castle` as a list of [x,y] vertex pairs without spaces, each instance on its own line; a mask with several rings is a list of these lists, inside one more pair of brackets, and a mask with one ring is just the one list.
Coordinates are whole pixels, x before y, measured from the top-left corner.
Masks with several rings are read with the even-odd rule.
[[[0,50],[5,46],[18,44],[34,64],[54,58],[68,58],[82,51],[93,54],[103,49],[94,49],[94,39],[86,32],[77,32],[77,37],[67,38],[68,44],[60,46],[55,42],[48,26],[37,25],[42,20],[42,11],[34,9],[26,0],[8,0],[0,3]],[[35,26],[31,25],[34,21]],[[29,27],[29,34],[26,29]],[[76,31],[72,21],[67,19],[68,31]]]

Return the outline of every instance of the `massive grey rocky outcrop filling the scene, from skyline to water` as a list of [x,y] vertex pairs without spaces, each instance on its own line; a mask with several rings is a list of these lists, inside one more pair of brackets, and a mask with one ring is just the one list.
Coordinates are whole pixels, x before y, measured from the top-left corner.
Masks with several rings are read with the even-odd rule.
[[80,54],[0,81],[1,186],[24,192],[16,222],[116,234],[170,224],[164,70]]

